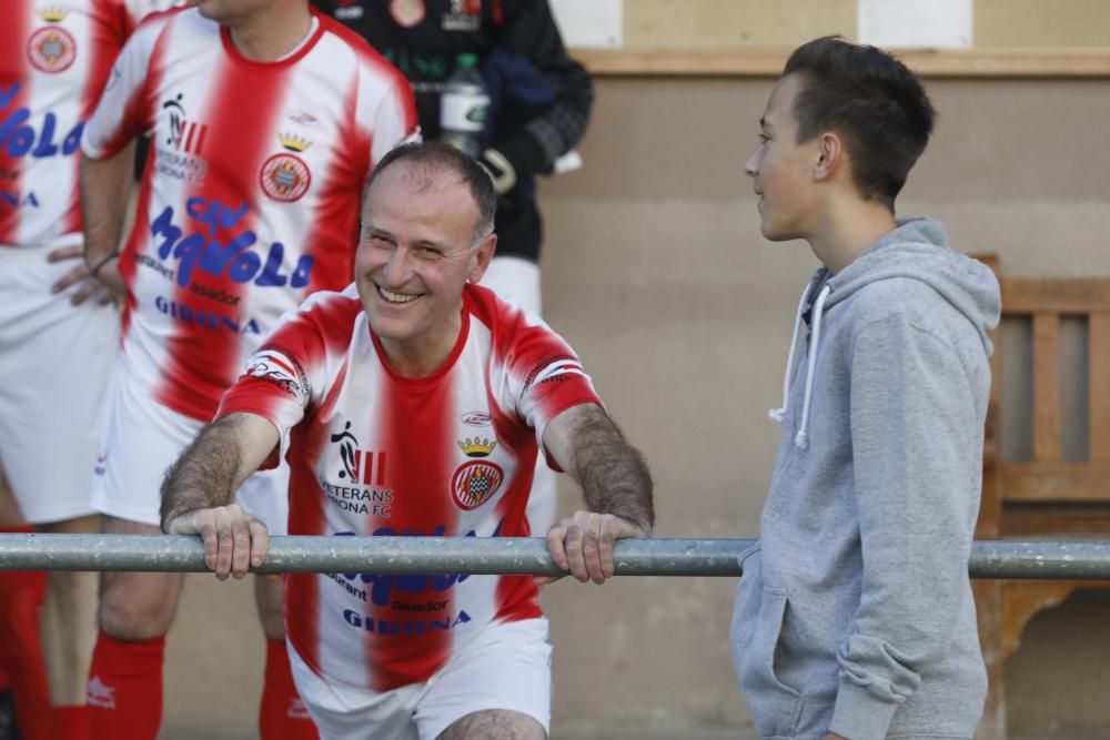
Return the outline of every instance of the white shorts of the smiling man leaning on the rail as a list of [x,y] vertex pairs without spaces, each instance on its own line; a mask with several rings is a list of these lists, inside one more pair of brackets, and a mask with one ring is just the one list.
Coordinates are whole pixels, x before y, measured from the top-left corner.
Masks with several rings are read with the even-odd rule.
[[435,740],[476,711],[505,709],[551,728],[547,620],[494,622],[424,683],[375,692],[330,682],[289,648],[293,681],[324,740]]

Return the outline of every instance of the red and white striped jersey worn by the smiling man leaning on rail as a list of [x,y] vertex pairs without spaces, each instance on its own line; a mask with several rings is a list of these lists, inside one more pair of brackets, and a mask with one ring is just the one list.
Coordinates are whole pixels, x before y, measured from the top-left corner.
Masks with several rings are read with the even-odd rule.
[[[444,366],[395,375],[352,285],[284,317],[219,414],[281,430],[291,535],[524,537],[544,428],[584,403],[601,404],[566,342],[475,285]],[[375,691],[426,680],[492,621],[542,614],[521,576],[290,575],[285,604],[313,670]]]

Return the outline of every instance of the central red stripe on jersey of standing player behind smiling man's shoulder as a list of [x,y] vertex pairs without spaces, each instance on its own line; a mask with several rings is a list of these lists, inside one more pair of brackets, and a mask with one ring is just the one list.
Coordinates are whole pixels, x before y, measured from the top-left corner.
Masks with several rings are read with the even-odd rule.
[[[232,49],[224,57],[223,63],[213,70],[212,79],[216,89],[205,101],[206,104],[186,101],[191,110],[196,110],[204,116],[203,121],[193,122],[208,126],[204,159],[211,166],[208,176],[191,190],[190,195],[199,199],[192,202],[200,211],[215,207],[238,212],[238,209],[245,205],[246,213],[231,226],[221,222],[214,234],[186,213],[173,214],[176,224],[188,224],[174,250],[192,234],[201,240],[201,246],[195,249],[206,250],[213,241],[219,242],[218,247],[225,249],[238,235],[256,233],[260,225],[259,200],[265,197],[260,193],[259,172],[274,148],[273,141],[258,132],[273,128],[270,121],[280,114],[284,105],[291,74],[286,61],[275,64],[248,62]],[[279,236],[263,234],[262,239]],[[265,260],[270,246],[271,244],[260,240],[249,246],[248,251]],[[183,278],[181,271],[184,270],[184,264],[185,260],[179,264],[179,281]],[[232,265],[228,264],[220,275],[214,275],[202,270],[200,260],[196,260],[188,280],[190,286],[201,285],[211,292],[223,291],[229,296],[238,297],[235,305],[194,293],[189,286],[181,286],[178,281],[173,290],[172,301],[179,312],[181,307],[186,307],[195,316],[205,312],[218,317],[214,322],[209,322],[215,323],[214,326],[204,326],[199,320],[178,322],[173,335],[167,341],[168,356],[162,371],[162,386],[155,392],[160,403],[196,419],[212,418],[220,396],[239,375],[241,337],[238,332],[230,331],[220,322],[225,316],[240,326],[251,321],[246,313],[250,305],[244,305],[248,303],[249,283],[231,280],[231,268]],[[272,286],[265,290],[285,288]]]

